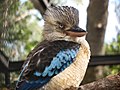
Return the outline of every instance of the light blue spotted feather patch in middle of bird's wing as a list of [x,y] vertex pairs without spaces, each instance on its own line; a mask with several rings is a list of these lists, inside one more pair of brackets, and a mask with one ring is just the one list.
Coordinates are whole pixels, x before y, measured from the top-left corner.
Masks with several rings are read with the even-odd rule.
[[[79,49],[79,48],[78,48]],[[76,57],[78,49],[67,49],[65,51],[60,51],[56,57],[53,58],[49,67],[46,67],[43,74],[46,72],[46,75],[53,73],[51,70],[54,69],[57,72],[59,69],[60,71],[64,70],[63,68],[68,67]],[[64,63],[62,63],[64,62]],[[58,72],[59,73],[59,72]],[[58,74],[57,73],[57,74]],[[53,75],[53,74],[51,74]]]

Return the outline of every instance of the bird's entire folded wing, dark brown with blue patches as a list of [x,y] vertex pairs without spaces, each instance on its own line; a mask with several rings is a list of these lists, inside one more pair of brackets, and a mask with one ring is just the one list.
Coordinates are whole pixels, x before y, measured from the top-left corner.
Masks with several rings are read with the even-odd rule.
[[79,48],[78,43],[71,41],[42,42],[28,55],[16,89],[42,87],[75,60]]

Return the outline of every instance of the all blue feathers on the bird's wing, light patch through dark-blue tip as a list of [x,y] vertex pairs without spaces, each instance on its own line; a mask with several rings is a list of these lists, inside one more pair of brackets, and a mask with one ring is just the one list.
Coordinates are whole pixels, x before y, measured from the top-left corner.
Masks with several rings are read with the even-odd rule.
[[[31,90],[42,87],[47,82],[49,82],[53,76],[65,70],[75,60],[78,50],[79,47],[72,47],[72,48],[60,50],[56,54],[56,56],[53,57],[49,66],[45,67],[43,72],[39,72],[36,70],[34,71],[33,76],[38,77],[37,80],[35,80],[33,77],[31,77],[29,80],[23,79],[22,84],[18,85],[19,88],[16,89]],[[29,62],[23,68],[19,80],[23,76],[22,74],[24,73],[24,70],[26,69],[28,64]]]

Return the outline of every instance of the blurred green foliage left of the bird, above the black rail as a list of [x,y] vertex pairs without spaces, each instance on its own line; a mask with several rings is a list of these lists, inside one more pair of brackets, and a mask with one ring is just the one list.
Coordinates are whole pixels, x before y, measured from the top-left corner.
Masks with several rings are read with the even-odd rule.
[[0,50],[12,61],[25,59],[41,41],[42,27],[38,22],[42,17],[34,12],[29,0],[3,0],[0,3]]

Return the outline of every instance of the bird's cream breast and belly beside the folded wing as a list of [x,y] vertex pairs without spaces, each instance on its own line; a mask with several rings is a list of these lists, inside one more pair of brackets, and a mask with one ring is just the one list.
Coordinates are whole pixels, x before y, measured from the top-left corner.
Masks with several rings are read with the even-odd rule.
[[81,43],[74,63],[64,71],[54,76],[44,90],[65,90],[66,88],[78,87],[84,78],[89,62],[90,50],[86,41]]

